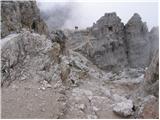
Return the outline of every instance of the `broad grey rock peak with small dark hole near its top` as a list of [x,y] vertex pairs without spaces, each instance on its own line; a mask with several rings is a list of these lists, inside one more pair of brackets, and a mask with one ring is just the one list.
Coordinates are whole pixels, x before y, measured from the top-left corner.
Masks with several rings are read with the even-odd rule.
[[93,27],[78,35],[85,43],[78,51],[85,54],[99,68],[116,70],[127,65],[124,25],[116,13],[106,13]]

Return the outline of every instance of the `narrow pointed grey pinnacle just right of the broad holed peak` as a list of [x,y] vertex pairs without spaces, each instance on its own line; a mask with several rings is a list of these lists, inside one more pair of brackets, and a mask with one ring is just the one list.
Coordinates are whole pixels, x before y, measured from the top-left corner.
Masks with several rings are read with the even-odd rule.
[[147,67],[150,62],[150,43],[146,23],[135,13],[125,25],[125,32],[129,65]]

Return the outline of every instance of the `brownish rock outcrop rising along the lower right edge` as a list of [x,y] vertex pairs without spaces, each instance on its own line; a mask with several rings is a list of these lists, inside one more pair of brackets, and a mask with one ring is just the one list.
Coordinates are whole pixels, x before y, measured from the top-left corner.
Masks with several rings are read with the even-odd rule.
[[153,55],[151,64],[146,70],[140,86],[131,94],[135,103],[135,118],[158,118],[159,106],[159,54]]

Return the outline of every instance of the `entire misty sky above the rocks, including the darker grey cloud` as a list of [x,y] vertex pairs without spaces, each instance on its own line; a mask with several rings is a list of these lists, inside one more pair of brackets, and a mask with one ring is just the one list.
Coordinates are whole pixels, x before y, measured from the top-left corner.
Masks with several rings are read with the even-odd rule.
[[106,12],[116,12],[126,24],[139,13],[149,29],[158,26],[157,2],[43,2],[38,0],[42,17],[50,29],[92,26]]

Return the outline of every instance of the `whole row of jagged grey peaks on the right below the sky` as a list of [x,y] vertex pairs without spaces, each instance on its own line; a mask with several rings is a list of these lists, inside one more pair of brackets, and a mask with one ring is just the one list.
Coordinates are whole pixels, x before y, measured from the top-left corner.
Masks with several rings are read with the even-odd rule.
[[[126,25],[116,13],[106,13],[86,33],[82,41],[87,42],[77,51],[104,70],[117,70],[126,66],[145,68],[158,49],[158,27],[149,32],[146,23],[137,13]],[[75,36],[70,36],[72,41],[78,41],[84,35]]]

